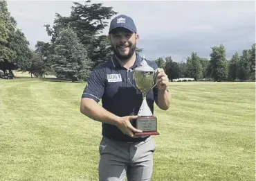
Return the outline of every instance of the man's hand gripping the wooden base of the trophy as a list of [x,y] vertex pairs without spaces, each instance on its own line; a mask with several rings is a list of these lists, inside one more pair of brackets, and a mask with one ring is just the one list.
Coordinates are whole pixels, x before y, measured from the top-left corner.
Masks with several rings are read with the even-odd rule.
[[127,116],[127,117],[120,117],[116,126],[125,134],[129,135],[130,137],[134,137],[134,133],[136,132],[143,132],[142,130],[138,130],[131,125],[131,120],[136,119],[138,116]]

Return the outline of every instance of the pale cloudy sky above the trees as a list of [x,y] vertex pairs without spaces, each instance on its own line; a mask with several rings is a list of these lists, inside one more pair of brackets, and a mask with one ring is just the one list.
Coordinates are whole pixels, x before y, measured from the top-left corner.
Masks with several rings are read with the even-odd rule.
[[[84,1],[79,0],[80,3]],[[134,19],[137,46],[147,60],[172,56],[185,60],[192,51],[209,58],[212,46],[223,44],[227,58],[255,43],[255,1],[91,1],[112,6],[118,15]],[[30,47],[50,42],[44,24],[53,26],[55,13],[68,16],[73,1],[8,0],[8,10]],[[110,20],[109,20],[110,21]],[[104,34],[107,35],[107,27]]]

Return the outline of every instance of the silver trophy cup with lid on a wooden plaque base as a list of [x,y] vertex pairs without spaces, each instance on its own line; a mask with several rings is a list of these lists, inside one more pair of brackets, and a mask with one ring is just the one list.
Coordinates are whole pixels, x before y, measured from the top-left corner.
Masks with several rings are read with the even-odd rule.
[[135,128],[143,132],[135,133],[135,136],[160,135],[157,131],[157,119],[153,116],[146,100],[149,90],[156,86],[156,83],[154,83],[156,71],[147,64],[145,56],[143,56],[140,66],[133,70],[130,69],[129,71],[133,73],[136,83],[135,88],[138,89],[143,96],[143,102],[138,111],[138,118],[134,119],[132,123]]

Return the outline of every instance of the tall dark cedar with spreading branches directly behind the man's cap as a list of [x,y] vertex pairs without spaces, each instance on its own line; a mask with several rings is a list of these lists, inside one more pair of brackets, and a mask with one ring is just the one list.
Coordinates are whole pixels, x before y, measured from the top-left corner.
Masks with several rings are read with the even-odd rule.
[[75,6],[72,6],[69,17],[56,14],[53,28],[49,24],[45,26],[48,35],[52,37],[52,43],[55,43],[62,28],[72,28],[95,67],[112,54],[107,35],[100,33],[108,26],[106,20],[117,12],[113,11],[112,7],[102,6],[102,3],[90,3],[91,1],[86,1],[84,4],[74,2]]

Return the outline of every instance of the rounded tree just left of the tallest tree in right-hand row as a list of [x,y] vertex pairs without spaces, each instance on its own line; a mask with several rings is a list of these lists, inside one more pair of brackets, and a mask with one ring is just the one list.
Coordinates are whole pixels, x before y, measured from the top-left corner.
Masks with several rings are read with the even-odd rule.
[[191,58],[187,59],[187,71],[188,76],[190,78],[194,78],[194,80],[199,80],[203,76],[203,68],[200,62],[199,55],[197,53],[192,52]]

